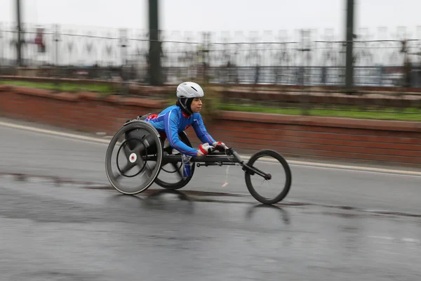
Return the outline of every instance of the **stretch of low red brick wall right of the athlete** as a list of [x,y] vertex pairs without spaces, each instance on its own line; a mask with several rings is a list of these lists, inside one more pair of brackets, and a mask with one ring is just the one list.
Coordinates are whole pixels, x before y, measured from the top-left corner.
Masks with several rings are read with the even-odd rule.
[[421,164],[421,122],[224,112],[214,138],[283,155]]

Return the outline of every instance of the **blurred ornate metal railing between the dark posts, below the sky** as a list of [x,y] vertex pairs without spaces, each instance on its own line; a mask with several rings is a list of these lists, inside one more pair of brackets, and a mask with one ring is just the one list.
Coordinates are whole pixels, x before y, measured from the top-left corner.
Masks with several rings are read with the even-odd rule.
[[[0,23],[1,74],[148,84],[147,32],[59,25],[22,29],[23,68],[16,65],[17,32]],[[356,86],[421,87],[421,37],[406,39],[404,33],[373,39],[362,32],[354,42]],[[166,84],[199,77],[219,84],[340,86],[345,82],[345,42],[331,31],[321,36],[306,30],[293,36],[161,32],[160,42]]]

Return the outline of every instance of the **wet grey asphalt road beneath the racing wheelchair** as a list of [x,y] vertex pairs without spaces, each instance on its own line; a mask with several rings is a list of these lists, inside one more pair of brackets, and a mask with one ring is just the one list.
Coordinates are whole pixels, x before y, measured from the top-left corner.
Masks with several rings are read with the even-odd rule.
[[[4,122],[4,119],[0,121]],[[1,280],[420,280],[421,176],[291,165],[265,207],[243,172],[109,188],[107,145],[0,125]]]

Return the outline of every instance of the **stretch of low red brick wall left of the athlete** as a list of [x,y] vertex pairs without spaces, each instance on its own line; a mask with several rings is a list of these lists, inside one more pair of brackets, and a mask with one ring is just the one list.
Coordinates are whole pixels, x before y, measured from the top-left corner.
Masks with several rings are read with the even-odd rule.
[[81,131],[112,134],[127,119],[159,111],[160,101],[97,93],[53,93],[43,89],[0,85],[0,115]]

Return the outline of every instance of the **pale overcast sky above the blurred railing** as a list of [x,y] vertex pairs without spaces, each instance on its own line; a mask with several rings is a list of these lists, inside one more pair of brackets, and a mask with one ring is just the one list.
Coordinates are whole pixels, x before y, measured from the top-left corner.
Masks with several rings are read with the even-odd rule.
[[[147,0],[21,0],[23,21],[147,29]],[[263,32],[308,28],[345,32],[346,0],[161,0],[161,30]],[[15,0],[0,0],[0,22],[15,21]],[[421,39],[421,0],[356,1],[356,28],[408,27]],[[418,27],[418,28],[417,28]]]

